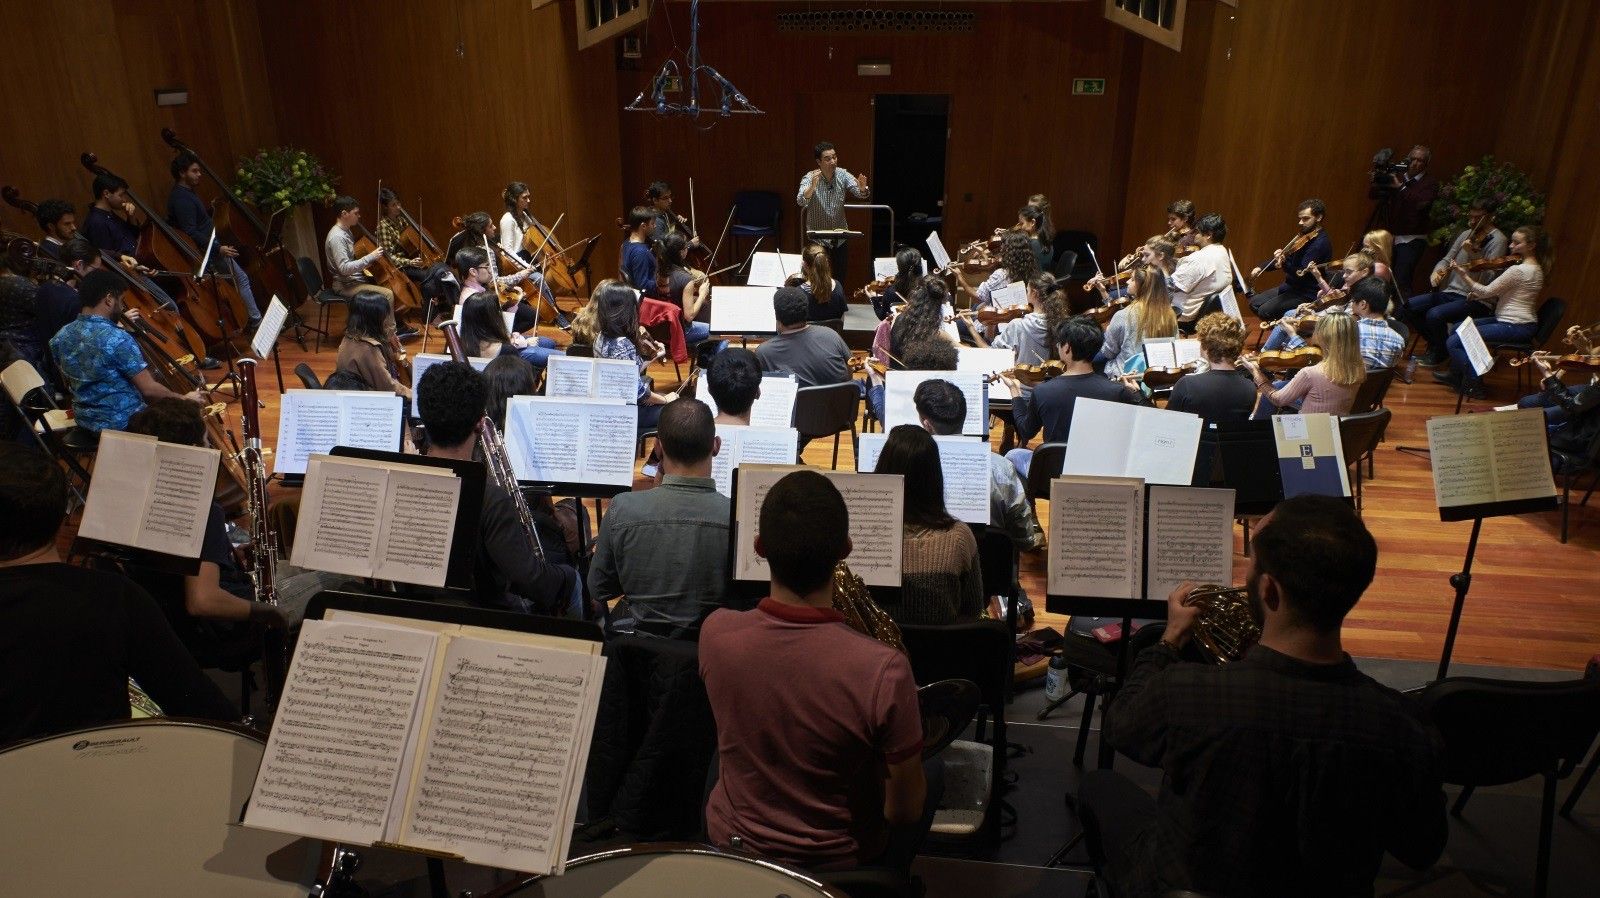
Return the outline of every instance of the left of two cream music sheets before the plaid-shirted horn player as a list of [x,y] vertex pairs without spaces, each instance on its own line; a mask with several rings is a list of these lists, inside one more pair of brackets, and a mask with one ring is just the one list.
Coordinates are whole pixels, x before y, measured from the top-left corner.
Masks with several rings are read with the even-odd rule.
[[1142,599],[1144,480],[1058,477],[1050,482],[1046,559],[1051,595]]

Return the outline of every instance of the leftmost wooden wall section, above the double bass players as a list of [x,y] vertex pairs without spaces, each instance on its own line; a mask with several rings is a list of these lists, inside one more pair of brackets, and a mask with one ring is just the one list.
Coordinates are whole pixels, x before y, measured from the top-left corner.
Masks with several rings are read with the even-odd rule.
[[[227,171],[277,139],[250,0],[83,0],[10,3],[0,54],[0,179],[32,200],[59,197],[85,214],[93,150],[160,210],[171,187],[170,126]],[[157,107],[155,90],[189,91],[189,104]],[[34,222],[0,208],[8,229]]]

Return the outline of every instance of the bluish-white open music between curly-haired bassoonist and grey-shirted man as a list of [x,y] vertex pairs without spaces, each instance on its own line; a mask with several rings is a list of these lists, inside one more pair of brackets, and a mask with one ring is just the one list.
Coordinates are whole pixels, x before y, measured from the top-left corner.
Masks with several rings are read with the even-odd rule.
[[518,480],[630,487],[637,442],[637,405],[546,395],[506,402],[506,451]]

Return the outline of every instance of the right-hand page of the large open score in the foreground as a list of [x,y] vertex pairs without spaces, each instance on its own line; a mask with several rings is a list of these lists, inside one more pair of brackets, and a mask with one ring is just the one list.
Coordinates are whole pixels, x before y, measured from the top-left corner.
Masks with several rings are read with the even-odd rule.
[[520,871],[565,855],[603,658],[451,639],[402,842]]

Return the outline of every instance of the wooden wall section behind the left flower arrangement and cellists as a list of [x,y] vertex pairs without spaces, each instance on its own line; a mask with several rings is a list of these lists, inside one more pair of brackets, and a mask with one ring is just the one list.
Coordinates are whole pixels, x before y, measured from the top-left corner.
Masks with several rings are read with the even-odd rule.
[[[450,218],[504,211],[509,181],[533,187],[557,235],[602,232],[595,274],[616,271],[614,67],[584,53],[573,5],[520,0],[261,3],[283,141],[318,154],[373,224],[378,181],[445,240]],[[318,231],[328,226],[318,210]]]

